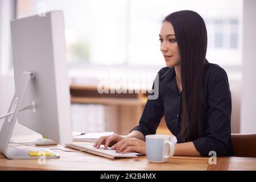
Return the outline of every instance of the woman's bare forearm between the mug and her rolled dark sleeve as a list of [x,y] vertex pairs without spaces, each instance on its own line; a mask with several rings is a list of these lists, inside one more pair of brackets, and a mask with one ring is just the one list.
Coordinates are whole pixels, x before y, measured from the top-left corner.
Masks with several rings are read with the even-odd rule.
[[174,155],[201,156],[193,142],[176,143]]

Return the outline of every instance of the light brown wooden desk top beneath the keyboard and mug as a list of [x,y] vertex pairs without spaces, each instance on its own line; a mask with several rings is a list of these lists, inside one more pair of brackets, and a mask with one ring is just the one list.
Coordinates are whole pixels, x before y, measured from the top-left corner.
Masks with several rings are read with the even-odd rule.
[[[29,138],[30,140],[26,140]],[[31,142],[31,137],[22,136],[14,142]],[[17,148],[27,148],[35,146],[23,146],[11,144]],[[44,146],[47,148],[62,148],[73,150],[72,148],[57,146]],[[0,170],[256,170],[256,158],[225,157],[217,158],[217,164],[209,164],[209,157],[184,157],[174,156],[166,163],[149,163],[146,156],[129,159],[108,159],[86,152],[65,152],[56,150],[60,154],[60,159],[47,159],[46,164],[38,164],[37,159],[9,160],[0,154]]]

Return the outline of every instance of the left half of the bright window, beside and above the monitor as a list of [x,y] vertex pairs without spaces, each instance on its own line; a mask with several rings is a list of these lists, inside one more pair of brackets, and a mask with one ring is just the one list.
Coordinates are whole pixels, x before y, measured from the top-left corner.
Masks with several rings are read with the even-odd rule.
[[127,1],[18,1],[18,17],[64,11],[67,58],[71,64],[122,64],[126,60]]

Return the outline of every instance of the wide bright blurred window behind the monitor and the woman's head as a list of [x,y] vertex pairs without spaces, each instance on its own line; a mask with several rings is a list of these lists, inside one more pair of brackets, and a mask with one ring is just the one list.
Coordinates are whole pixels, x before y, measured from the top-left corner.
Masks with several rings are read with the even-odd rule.
[[18,0],[18,18],[42,8],[64,10],[68,63],[73,68],[88,64],[163,67],[158,41],[162,20],[184,9],[205,20],[210,62],[242,64],[242,0]]

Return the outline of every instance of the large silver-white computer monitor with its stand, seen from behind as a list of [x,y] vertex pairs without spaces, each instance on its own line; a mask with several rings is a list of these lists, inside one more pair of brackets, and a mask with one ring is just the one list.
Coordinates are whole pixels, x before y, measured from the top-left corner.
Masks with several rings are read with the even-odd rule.
[[15,94],[0,131],[0,150],[10,159],[29,159],[27,151],[7,149],[16,117],[47,138],[72,143],[63,11],[12,20],[11,41]]

